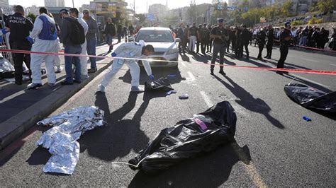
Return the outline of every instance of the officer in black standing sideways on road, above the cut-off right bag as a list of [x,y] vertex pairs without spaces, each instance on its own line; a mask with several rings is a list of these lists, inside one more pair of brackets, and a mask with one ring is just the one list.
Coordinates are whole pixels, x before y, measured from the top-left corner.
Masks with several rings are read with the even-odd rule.
[[[291,43],[291,23],[286,22],[284,30],[280,33],[280,59],[278,61],[278,68],[284,68],[284,63],[289,53],[289,44]],[[284,74],[287,71],[276,71],[277,74]]]

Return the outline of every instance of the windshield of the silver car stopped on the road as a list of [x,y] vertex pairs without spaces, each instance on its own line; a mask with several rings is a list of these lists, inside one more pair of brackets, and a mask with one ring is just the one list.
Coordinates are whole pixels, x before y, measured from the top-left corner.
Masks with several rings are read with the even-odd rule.
[[140,30],[135,41],[145,42],[174,42],[170,30]]

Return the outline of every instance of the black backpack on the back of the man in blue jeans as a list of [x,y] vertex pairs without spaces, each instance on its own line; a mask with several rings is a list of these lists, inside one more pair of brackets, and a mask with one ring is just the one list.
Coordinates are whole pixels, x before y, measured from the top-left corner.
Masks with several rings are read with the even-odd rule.
[[72,23],[71,34],[69,38],[74,45],[82,45],[85,42],[85,33],[83,26],[79,23],[76,18],[66,17],[70,23]]

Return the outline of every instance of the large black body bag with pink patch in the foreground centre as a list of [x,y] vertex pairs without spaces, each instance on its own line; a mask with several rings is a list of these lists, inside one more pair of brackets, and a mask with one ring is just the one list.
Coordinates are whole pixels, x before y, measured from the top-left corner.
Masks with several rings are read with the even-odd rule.
[[135,158],[128,161],[133,170],[152,173],[215,150],[233,141],[237,117],[230,102],[223,101],[205,112],[163,129]]

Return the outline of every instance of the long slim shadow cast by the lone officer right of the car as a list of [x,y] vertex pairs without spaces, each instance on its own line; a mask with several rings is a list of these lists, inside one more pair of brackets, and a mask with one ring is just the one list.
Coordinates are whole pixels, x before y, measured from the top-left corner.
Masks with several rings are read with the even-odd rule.
[[260,99],[260,98],[254,98],[251,93],[247,92],[244,88],[240,87],[237,83],[235,83],[231,78],[228,76],[224,76],[229,82],[226,83],[218,76],[213,75],[220,83],[223,83],[223,85],[228,88],[231,93],[233,93],[239,100],[235,100],[239,105],[242,107],[245,107],[247,110],[250,110],[252,112],[257,112],[259,114],[263,114],[267,120],[273,124],[275,127],[278,127],[279,129],[284,129],[284,125],[279,122],[278,119],[275,119],[274,117],[269,114],[271,111],[271,107],[267,105],[267,103]]

